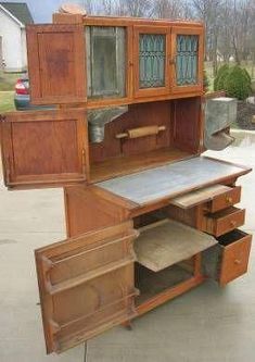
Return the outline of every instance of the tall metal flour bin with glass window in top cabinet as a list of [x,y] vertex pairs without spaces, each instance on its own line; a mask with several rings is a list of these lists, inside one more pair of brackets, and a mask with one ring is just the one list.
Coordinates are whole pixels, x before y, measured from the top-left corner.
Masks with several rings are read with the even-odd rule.
[[88,99],[126,96],[126,29],[114,26],[87,26]]

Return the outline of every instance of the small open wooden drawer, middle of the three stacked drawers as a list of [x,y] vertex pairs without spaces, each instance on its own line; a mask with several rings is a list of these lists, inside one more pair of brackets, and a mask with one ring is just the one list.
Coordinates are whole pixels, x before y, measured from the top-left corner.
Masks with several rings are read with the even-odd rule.
[[220,236],[244,224],[245,210],[228,208],[203,216],[202,230]]

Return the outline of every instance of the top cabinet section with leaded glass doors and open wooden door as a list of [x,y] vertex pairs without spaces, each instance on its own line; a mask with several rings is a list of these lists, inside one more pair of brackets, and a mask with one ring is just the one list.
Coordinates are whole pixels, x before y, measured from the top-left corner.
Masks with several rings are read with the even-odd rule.
[[204,30],[199,23],[92,16],[79,24],[54,21],[27,27],[34,104],[97,109],[203,92]]

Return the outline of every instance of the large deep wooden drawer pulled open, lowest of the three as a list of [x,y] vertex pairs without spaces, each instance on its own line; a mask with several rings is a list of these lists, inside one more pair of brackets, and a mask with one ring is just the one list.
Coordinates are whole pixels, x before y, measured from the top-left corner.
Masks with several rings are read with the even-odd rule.
[[217,239],[218,245],[203,251],[203,269],[224,286],[246,273],[252,235],[234,229]]

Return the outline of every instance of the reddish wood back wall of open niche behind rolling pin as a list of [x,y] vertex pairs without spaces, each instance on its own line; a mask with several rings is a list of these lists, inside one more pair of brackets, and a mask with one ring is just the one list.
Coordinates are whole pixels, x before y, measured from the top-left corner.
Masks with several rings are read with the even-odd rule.
[[[151,125],[165,126],[157,135],[117,139],[127,129]],[[130,104],[127,113],[105,125],[101,143],[90,143],[90,162],[128,157],[158,149],[197,152],[201,137],[201,98]]]

